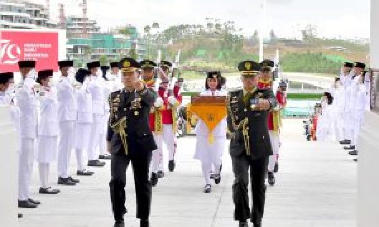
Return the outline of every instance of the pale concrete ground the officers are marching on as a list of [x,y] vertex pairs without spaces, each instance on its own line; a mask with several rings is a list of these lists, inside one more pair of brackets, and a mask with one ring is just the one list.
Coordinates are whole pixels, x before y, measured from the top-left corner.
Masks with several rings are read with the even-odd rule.
[[[286,119],[282,131],[277,184],[268,187],[265,227],[356,226],[356,163],[336,143],[306,142],[303,123]],[[178,140],[177,169],[153,188],[151,226],[237,226],[233,221],[230,157],[225,150],[220,185],[203,193],[201,166],[192,158],[194,137]],[[56,166],[51,183],[56,185]],[[71,171],[75,159],[72,155]],[[41,200],[37,209],[21,209],[19,226],[84,227],[113,226],[108,182],[110,164],[94,169],[92,177],[80,177],[77,186],[60,186],[59,195],[39,195],[38,171],[34,167],[32,198]],[[54,177],[53,177],[54,176]],[[132,171],[127,173],[126,226],[139,226],[135,218]],[[250,226],[250,225],[249,225]]]

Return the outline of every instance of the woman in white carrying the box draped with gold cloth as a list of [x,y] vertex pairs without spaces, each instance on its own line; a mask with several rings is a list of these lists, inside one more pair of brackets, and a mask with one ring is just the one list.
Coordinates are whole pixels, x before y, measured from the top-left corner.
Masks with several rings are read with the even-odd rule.
[[[226,96],[227,91],[222,90],[222,77],[220,72],[212,71],[208,73],[205,82],[205,91],[200,95],[204,96]],[[204,193],[211,192],[211,172],[214,171],[215,184],[219,184],[221,180],[220,171],[222,164],[222,154],[225,148],[227,122],[226,116],[218,123],[212,131],[213,141],[209,141],[209,130],[201,119],[195,128],[196,148],[194,158],[202,163],[203,177],[205,181]]]

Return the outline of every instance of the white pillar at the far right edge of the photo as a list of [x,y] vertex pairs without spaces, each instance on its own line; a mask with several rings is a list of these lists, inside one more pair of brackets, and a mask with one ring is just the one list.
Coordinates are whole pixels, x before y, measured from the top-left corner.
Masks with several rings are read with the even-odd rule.
[[[379,68],[379,1],[371,0],[370,67]],[[366,111],[358,141],[358,227],[379,223],[379,115]]]

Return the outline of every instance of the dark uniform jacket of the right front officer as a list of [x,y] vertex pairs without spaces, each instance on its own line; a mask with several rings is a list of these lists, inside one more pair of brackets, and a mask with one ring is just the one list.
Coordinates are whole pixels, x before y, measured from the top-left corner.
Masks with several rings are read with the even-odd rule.
[[[269,99],[271,108],[276,107],[276,98],[270,89],[257,89],[252,97]],[[237,90],[229,93],[228,97],[228,131],[234,136],[230,140],[230,155],[240,156],[247,155],[246,141],[241,128],[235,129],[235,125],[245,118],[248,119],[246,130],[249,135],[251,159],[260,159],[272,155],[272,147],[268,134],[267,118],[269,110],[253,110],[250,105],[243,102],[243,90]],[[233,119],[235,124],[233,124]]]

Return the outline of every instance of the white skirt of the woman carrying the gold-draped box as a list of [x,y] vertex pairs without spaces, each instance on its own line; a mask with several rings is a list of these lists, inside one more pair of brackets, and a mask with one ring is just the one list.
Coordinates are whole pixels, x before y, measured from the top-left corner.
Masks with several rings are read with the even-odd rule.
[[196,136],[196,148],[194,158],[201,162],[220,165],[225,149],[225,137],[214,137],[212,144],[208,142],[208,136]]

